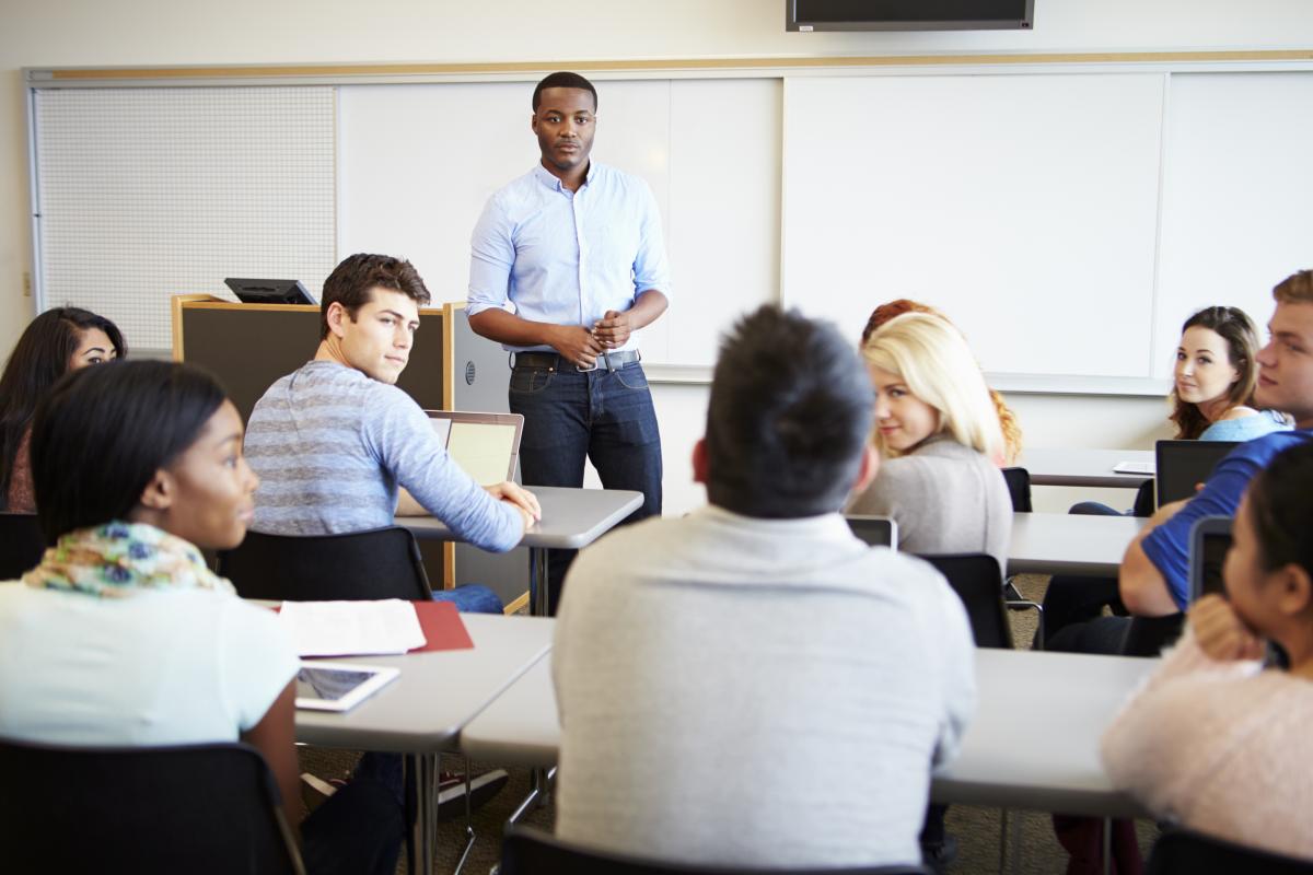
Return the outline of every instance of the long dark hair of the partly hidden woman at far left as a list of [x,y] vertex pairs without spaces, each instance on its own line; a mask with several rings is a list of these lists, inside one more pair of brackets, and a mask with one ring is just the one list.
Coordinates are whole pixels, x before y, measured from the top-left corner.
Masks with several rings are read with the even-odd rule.
[[83,332],[92,328],[105,332],[118,358],[127,356],[118,325],[80,307],[47,310],[28,323],[14,344],[0,376],[0,506],[7,506],[14,457],[37,403],[68,371]]

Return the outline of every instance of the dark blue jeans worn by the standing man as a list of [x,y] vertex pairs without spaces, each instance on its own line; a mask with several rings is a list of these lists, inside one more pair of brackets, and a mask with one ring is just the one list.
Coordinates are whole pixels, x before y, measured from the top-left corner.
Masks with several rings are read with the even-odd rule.
[[[587,458],[603,487],[643,493],[643,505],[625,522],[660,516],[660,433],[642,365],[584,374],[569,366],[517,365],[511,371],[509,401],[512,413],[524,415],[524,485],[582,487]],[[548,551],[551,613],[574,555],[574,550]]]

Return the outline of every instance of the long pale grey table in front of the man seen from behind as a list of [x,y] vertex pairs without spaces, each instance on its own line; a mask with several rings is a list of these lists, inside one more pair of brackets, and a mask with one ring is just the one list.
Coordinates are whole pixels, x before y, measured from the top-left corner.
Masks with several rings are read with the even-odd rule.
[[[977,649],[979,708],[961,754],[935,775],[935,802],[1145,816],[1108,782],[1099,762],[1099,737],[1127,694],[1157,664],[1121,656]],[[561,728],[550,656],[470,720],[460,745],[478,760],[554,765]]]

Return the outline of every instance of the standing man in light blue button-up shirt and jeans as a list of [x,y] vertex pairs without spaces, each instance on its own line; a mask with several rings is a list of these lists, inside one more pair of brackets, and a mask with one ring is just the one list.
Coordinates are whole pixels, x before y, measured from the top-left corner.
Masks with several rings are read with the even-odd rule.
[[[660,214],[638,177],[590,160],[597,91],[578,73],[533,89],[541,161],[496,192],[474,228],[470,327],[512,353],[525,484],[582,487],[584,458],[611,489],[660,514],[660,436],[638,329],[667,307]],[[572,551],[551,551],[554,605]]]

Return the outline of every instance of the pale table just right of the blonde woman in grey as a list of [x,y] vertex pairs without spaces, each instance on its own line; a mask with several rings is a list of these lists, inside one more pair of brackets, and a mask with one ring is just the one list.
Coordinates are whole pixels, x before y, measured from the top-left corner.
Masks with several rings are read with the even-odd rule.
[[1007,573],[1116,577],[1127,546],[1146,522],[1141,517],[1014,514]]

